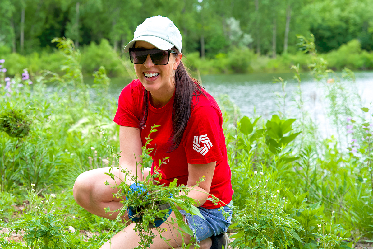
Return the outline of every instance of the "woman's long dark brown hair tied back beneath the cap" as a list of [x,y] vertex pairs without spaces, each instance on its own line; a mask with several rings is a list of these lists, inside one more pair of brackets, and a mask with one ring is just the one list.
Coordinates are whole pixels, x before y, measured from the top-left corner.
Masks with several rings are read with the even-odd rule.
[[[175,57],[180,53],[176,47],[173,47],[171,50],[178,52],[173,54]],[[188,124],[189,117],[192,112],[192,99],[193,96],[198,96],[201,94],[206,96],[203,93],[200,82],[191,77],[191,75],[186,71],[186,68],[182,62],[179,63],[178,68],[175,71],[175,99],[173,101],[172,108],[172,134],[169,138],[168,151],[172,152],[179,147],[181,138],[185,131],[186,125]],[[144,111],[142,112],[142,118],[139,122],[139,128],[145,125],[145,122],[148,117],[148,91],[144,91]]]

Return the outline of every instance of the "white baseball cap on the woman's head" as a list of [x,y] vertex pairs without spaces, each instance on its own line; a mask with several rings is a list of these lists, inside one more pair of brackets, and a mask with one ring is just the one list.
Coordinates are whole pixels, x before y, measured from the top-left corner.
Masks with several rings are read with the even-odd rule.
[[128,52],[135,41],[147,41],[160,50],[169,50],[175,46],[181,52],[180,31],[170,19],[163,16],[147,18],[138,25],[134,32],[134,39],[127,43],[124,52]]

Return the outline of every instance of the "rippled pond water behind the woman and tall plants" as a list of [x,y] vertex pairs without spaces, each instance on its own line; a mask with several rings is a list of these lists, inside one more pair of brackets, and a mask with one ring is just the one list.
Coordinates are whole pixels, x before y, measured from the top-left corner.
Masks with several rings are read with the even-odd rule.
[[[299,99],[296,91],[298,82],[293,78],[294,74],[239,74],[239,75],[202,75],[202,85],[206,90],[218,97],[227,94],[229,99],[237,105],[242,113],[248,117],[262,116],[270,119],[279,111],[279,97],[276,92],[282,94],[281,83],[272,83],[273,77],[282,77],[287,81],[286,91],[286,116],[297,118],[300,115],[294,99]],[[341,74],[337,74],[339,77]],[[370,108],[373,102],[373,72],[355,72],[356,84],[352,81],[342,83],[350,93],[358,93],[364,106]],[[89,83],[89,80],[85,82]],[[93,80],[92,80],[93,81]],[[112,78],[110,96],[119,96],[120,91],[130,80]],[[310,117],[318,125],[323,137],[333,133],[333,127],[327,118],[327,100],[325,99],[326,83],[317,82],[310,74],[301,74],[301,90],[304,108]],[[360,108],[360,107],[359,107]],[[282,109],[283,110],[283,109]]]

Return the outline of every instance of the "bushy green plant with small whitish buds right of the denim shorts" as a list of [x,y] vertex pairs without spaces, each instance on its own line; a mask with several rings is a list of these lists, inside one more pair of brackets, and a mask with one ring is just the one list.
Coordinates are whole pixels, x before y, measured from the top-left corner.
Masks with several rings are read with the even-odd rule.
[[232,236],[232,248],[288,248],[294,245],[294,239],[301,240],[295,233],[302,230],[299,223],[283,210],[285,201],[279,201],[279,192],[276,196],[267,191],[265,183],[261,183],[262,175],[260,172],[257,181],[254,172],[255,185],[248,189],[251,198],[235,215],[231,228],[237,233]]

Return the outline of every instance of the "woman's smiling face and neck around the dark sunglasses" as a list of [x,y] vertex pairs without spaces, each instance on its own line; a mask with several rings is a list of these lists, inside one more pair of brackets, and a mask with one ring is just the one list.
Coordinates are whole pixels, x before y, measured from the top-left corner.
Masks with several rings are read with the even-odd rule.
[[[136,41],[135,48],[157,49],[146,41]],[[175,91],[175,70],[178,68],[182,54],[170,55],[167,65],[154,65],[150,55],[143,64],[134,64],[135,72],[141,84],[151,94],[154,107],[164,106],[171,99]],[[164,105],[163,105],[164,104]]]

